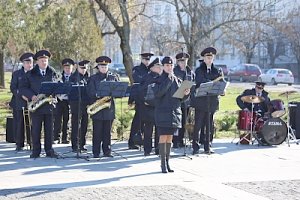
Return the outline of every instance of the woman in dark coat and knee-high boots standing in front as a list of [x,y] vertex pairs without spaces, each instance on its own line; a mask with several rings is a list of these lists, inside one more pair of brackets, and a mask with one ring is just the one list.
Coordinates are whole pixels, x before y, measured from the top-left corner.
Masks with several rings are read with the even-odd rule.
[[[177,129],[182,126],[182,100],[173,97],[181,81],[174,75],[172,58],[168,56],[164,57],[162,64],[163,73],[153,89],[156,97],[155,124],[159,134],[161,171],[162,173],[167,173],[174,172],[174,170],[170,168],[169,159],[173,135]],[[190,89],[185,90],[185,95],[188,95],[189,92]]]

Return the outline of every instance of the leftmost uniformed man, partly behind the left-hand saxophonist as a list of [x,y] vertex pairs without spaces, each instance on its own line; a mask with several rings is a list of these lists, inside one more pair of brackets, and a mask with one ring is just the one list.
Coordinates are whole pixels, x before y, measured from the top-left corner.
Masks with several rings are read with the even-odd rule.
[[30,144],[30,127],[25,127],[24,125],[24,116],[23,108],[27,109],[28,99],[25,96],[21,95],[20,89],[22,83],[26,79],[26,73],[30,71],[33,67],[33,56],[34,54],[27,52],[20,57],[22,62],[22,68],[14,71],[12,73],[10,91],[13,96],[10,102],[11,107],[13,108],[13,120],[15,128],[15,142],[16,142],[16,151],[21,151],[24,147],[24,138],[25,138],[25,128],[27,143]]

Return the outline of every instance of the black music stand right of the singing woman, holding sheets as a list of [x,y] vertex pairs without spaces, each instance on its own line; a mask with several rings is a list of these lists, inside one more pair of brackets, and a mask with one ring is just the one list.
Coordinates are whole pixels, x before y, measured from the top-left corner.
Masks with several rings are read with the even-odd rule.
[[211,122],[210,122],[211,97],[212,96],[223,95],[227,86],[228,86],[227,82],[224,82],[224,81],[217,81],[217,82],[210,81],[210,82],[200,84],[200,87],[196,90],[195,97],[206,97],[206,100],[207,100],[208,115],[207,115],[206,125],[208,125],[208,126],[206,126],[206,133],[208,135],[206,135],[206,140],[208,140],[208,147],[207,147],[208,149],[206,151],[208,151],[208,154],[211,154],[210,145],[209,145],[210,132],[211,132],[211,130],[210,130],[210,126],[211,126]]

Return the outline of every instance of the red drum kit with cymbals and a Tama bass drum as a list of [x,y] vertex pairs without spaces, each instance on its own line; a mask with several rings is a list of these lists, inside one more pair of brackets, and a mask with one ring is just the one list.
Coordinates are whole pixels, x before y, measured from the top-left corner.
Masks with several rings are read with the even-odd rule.
[[[254,112],[254,104],[264,102],[263,97],[249,95],[242,97],[242,101],[251,103],[251,111],[239,111],[238,131],[244,131],[240,134],[240,140],[236,144],[253,144],[256,140],[259,145],[280,145],[287,140],[290,146],[290,140],[298,141],[295,137],[294,130],[290,126],[289,108],[292,106],[289,103],[289,95],[296,91],[286,91],[279,94],[287,98],[287,108],[280,99],[270,101],[268,112],[261,116],[259,112]],[[281,117],[287,113],[287,122],[285,123]]]

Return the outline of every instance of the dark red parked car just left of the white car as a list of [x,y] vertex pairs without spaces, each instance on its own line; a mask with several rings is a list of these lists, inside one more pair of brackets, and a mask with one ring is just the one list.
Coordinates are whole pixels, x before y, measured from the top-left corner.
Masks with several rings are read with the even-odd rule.
[[228,81],[238,80],[244,81],[257,81],[261,75],[261,69],[255,64],[239,64],[233,68],[230,68],[228,73]]

